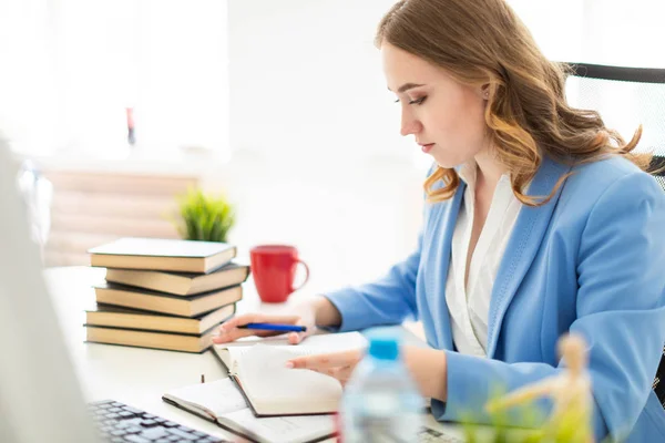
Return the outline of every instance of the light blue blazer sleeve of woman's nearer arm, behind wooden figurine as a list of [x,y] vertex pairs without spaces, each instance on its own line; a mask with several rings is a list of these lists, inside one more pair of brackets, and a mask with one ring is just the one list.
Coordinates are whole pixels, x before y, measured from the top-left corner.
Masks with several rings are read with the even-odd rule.
[[[577,317],[570,330],[589,342],[596,441],[607,433],[625,437],[652,390],[665,343],[664,229],[663,189],[647,174],[632,173],[605,189],[582,233]],[[561,363],[447,357],[447,403],[432,402],[438,420],[461,420],[471,411],[474,421],[488,423],[483,404],[491,390],[512,391],[561,371]],[[540,404],[549,413],[551,402]]]

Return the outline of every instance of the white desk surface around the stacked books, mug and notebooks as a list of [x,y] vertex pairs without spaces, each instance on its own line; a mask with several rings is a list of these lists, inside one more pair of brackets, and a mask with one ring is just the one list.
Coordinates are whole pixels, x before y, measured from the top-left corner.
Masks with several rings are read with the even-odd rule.
[[[114,399],[155,415],[180,422],[208,434],[233,439],[221,427],[162,401],[166,391],[226,377],[211,352],[190,354],[161,350],[85,343],[84,309],[94,300],[91,285],[104,279],[103,269],[85,267],[50,268],[45,270],[53,305],[64,333],[83,394],[88,401]],[[244,284],[245,298],[238,312],[280,311],[288,305],[260,303],[252,280]],[[294,295],[297,299],[299,295]],[[301,296],[300,296],[301,297]],[[451,425],[437,423],[428,416],[428,425],[460,436]]]

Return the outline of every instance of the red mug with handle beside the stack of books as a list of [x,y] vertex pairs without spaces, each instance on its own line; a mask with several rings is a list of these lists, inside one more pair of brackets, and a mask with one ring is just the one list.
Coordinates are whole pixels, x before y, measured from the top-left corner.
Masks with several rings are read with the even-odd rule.
[[[307,264],[298,258],[298,250],[286,245],[260,245],[249,250],[252,275],[260,299],[268,303],[286,301],[291,292],[309,279]],[[305,281],[294,287],[298,264],[305,267]]]

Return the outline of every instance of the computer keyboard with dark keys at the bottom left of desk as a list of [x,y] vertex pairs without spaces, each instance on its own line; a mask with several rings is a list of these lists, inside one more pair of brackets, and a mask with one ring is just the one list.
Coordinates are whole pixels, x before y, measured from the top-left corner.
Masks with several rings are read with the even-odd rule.
[[114,400],[88,404],[102,439],[112,443],[232,443]]

